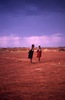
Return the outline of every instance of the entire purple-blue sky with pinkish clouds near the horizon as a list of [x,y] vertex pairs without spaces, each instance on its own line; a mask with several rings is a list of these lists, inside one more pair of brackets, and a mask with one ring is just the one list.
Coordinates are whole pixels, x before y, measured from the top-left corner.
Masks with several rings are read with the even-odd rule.
[[0,0],[0,47],[65,46],[64,0]]

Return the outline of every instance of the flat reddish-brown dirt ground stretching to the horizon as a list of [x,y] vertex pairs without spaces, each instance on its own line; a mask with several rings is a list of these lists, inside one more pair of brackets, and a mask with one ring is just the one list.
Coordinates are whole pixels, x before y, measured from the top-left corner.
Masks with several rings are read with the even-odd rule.
[[65,100],[65,51],[0,50],[0,100]]

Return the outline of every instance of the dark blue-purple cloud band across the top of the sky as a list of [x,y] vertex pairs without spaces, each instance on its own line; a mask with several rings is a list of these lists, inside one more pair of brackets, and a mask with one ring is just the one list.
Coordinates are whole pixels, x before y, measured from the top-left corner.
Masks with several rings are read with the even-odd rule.
[[65,12],[64,0],[0,0],[1,13]]

